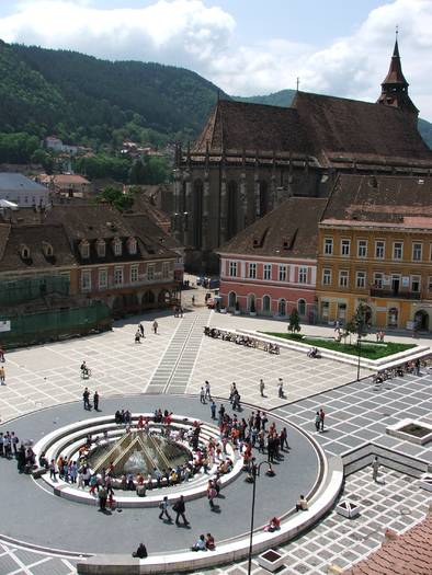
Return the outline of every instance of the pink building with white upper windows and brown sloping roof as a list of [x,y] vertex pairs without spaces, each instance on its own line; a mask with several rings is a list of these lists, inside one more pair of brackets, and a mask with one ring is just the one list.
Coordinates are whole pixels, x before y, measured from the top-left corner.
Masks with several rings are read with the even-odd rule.
[[219,250],[221,304],[285,318],[315,319],[318,222],[326,199],[292,197]]

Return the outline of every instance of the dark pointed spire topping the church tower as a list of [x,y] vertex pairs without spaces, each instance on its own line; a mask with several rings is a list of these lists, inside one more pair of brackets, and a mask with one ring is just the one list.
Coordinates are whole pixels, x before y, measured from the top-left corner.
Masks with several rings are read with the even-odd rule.
[[397,107],[405,112],[411,112],[416,115],[419,114],[419,111],[412,103],[411,99],[408,95],[408,87],[403,72],[402,65],[400,61],[399,55],[399,44],[398,44],[399,30],[396,26],[396,38],[395,47],[393,50],[390,67],[382,85],[382,93],[378,97],[377,103],[384,104],[386,106]]

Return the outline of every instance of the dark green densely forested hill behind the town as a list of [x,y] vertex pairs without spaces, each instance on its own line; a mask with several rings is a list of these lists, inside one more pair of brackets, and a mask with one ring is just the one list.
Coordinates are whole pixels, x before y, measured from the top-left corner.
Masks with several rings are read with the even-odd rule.
[[[182,68],[0,41],[0,162],[25,162],[35,152],[43,159],[39,141],[50,134],[102,153],[126,138],[156,147],[194,139],[217,93]],[[294,93],[236,100],[286,106]],[[419,128],[432,147],[432,124],[419,120]]]

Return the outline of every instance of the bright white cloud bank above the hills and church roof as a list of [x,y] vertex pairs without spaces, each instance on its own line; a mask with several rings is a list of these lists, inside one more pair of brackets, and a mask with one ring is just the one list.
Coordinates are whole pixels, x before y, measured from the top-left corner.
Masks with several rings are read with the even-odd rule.
[[281,38],[240,45],[232,16],[203,0],[156,0],[147,8],[116,10],[92,8],[92,0],[23,0],[0,19],[0,37],[184,66],[231,94],[293,88],[299,76],[304,90],[373,101],[387,72],[397,24],[411,96],[423,117],[432,119],[432,0],[385,3],[352,36],[320,49]]

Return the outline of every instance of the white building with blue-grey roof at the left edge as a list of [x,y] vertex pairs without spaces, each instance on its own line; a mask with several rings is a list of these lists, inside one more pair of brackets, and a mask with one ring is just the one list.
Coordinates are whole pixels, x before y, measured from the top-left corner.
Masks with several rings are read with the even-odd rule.
[[0,172],[0,199],[13,202],[22,208],[47,206],[49,191],[22,174]]

